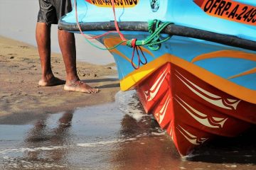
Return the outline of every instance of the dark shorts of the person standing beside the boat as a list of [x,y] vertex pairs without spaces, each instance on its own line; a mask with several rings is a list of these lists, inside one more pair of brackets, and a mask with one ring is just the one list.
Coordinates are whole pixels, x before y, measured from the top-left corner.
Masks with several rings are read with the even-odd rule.
[[71,0],[38,0],[38,23],[57,24],[61,16],[72,11]]

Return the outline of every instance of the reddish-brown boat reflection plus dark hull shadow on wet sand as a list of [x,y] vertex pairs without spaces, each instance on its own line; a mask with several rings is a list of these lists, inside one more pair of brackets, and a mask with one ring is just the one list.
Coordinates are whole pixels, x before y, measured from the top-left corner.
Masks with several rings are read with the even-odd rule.
[[[136,140],[121,142],[112,152],[114,169],[256,169],[256,127],[239,137],[220,137],[181,158],[168,135],[150,117],[137,122],[122,119],[120,135]],[[160,130],[161,131],[161,130]]]

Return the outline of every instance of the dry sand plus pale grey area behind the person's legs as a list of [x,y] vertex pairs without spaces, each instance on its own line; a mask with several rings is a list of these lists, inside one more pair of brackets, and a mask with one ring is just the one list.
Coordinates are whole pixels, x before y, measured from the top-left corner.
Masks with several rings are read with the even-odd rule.
[[[24,10],[30,6],[29,10]],[[114,101],[119,91],[117,71],[110,52],[98,50],[75,35],[78,74],[99,94],[64,91],[63,86],[40,87],[41,64],[36,48],[36,20],[38,1],[3,0],[0,2],[0,64],[1,94],[0,120],[16,113],[55,113],[73,108]],[[14,11],[11,15],[10,11]],[[58,27],[51,29],[51,62],[53,73],[65,79],[65,67],[58,46]],[[96,40],[92,40],[100,46]],[[100,100],[99,100],[100,98]]]

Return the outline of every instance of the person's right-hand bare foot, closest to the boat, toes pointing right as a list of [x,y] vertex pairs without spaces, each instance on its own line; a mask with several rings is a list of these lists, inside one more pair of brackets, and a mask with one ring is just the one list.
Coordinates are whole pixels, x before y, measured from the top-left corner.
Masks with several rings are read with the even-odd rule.
[[64,90],[66,91],[79,91],[87,94],[95,94],[98,93],[100,90],[96,88],[92,88],[91,86],[85,84],[80,80],[73,81],[71,83],[66,83],[64,86]]

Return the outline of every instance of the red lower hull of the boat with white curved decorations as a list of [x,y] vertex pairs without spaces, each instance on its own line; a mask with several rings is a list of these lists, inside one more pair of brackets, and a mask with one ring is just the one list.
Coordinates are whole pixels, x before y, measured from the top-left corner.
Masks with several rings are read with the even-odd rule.
[[234,137],[256,124],[255,104],[225,94],[171,63],[144,79],[137,94],[183,156],[215,136]]

